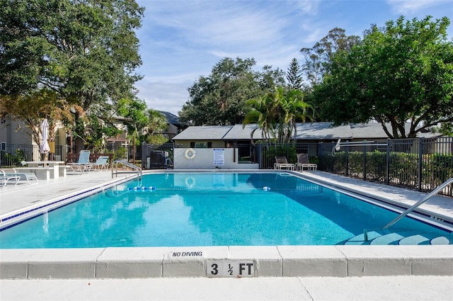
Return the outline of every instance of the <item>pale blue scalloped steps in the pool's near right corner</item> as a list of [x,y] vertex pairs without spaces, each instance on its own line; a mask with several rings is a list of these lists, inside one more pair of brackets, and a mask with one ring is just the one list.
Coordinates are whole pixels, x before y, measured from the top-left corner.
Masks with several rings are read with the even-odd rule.
[[421,244],[453,244],[453,234],[419,233],[414,231],[376,230],[368,232],[368,240],[363,234],[346,240],[345,245],[421,245]]

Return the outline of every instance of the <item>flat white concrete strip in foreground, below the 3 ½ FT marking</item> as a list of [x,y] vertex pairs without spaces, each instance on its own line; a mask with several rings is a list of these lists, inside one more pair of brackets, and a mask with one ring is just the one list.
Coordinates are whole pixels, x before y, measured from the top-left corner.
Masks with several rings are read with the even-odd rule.
[[451,301],[453,277],[0,280],[0,300]]

